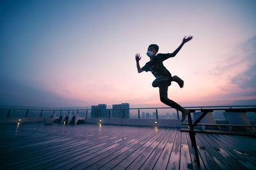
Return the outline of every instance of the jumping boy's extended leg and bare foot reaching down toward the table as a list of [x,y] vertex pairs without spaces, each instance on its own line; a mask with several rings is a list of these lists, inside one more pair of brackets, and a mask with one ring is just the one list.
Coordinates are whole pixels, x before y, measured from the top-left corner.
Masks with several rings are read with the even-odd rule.
[[159,94],[160,94],[160,100],[161,102],[163,102],[164,104],[175,108],[176,110],[181,111],[182,113],[182,120],[181,122],[183,122],[185,120],[185,118],[187,117],[189,110],[186,110],[185,108],[182,108],[182,106],[180,106],[179,104],[175,103],[175,101],[172,101],[170,99],[168,99],[168,86],[161,86],[159,87]]

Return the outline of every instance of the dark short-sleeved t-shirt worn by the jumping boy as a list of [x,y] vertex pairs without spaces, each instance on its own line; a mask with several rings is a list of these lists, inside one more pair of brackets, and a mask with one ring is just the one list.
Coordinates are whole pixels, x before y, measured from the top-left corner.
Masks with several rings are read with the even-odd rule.
[[147,62],[141,69],[143,71],[151,71],[155,76],[172,77],[172,74],[164,67],[163,61],[168,59],[170,53],[158,53],[152,60]]

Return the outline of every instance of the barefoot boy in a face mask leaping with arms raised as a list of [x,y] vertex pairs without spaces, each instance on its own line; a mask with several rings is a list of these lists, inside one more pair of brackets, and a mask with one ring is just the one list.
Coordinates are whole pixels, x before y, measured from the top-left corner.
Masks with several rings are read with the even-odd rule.
[[[151,71],[151,73],[156,77],[156,80],[153,81],[153,87],[159,87],[159,94],[160,94],[160,101],[164,104],[175,108],[176,110],[181,111],[182,113],[182,120],[183,122],[187,117],[189,110],[182,108],[179,104],[175,103],[174,101],[168,99],[167,91],[168,87],[171,85],[172,81],[175,81],[179,84],[179,87],[182,88],[184,85],[184,81],[181,80],[178,76],[172,76],[172,74],[164,67],[163,61],[169,59],[170,57],[175,57],[175,55],[179,52],[182,46],[191,40],[193,36],[186,36],[183,38],[181,45],[173,52],[173,53],[158,53],[159,47],[157,45],[150,45],[148,46],[147,55],[150,57],[150,61],[145,64],[142,68],[140,67],[140,53],[136,53],[135,59],[137,64],[138,73],[143,71]],[[156,55],[157,54],[157,55]]]

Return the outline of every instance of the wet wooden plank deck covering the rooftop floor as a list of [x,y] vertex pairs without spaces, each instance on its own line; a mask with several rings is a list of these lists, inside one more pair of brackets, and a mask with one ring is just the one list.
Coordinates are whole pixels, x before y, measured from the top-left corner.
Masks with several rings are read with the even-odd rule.
[[256,139],[177,128],[43,123],[0,125],[0,169],[256,169]]

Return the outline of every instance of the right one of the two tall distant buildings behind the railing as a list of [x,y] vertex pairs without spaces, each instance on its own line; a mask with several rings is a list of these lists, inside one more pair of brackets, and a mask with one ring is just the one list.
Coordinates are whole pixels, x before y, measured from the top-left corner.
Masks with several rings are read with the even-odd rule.
[[113,118],[129,118],[130,117],[130,104],[122,103],[122,104],[113,104],[112,106],[112,117]]

